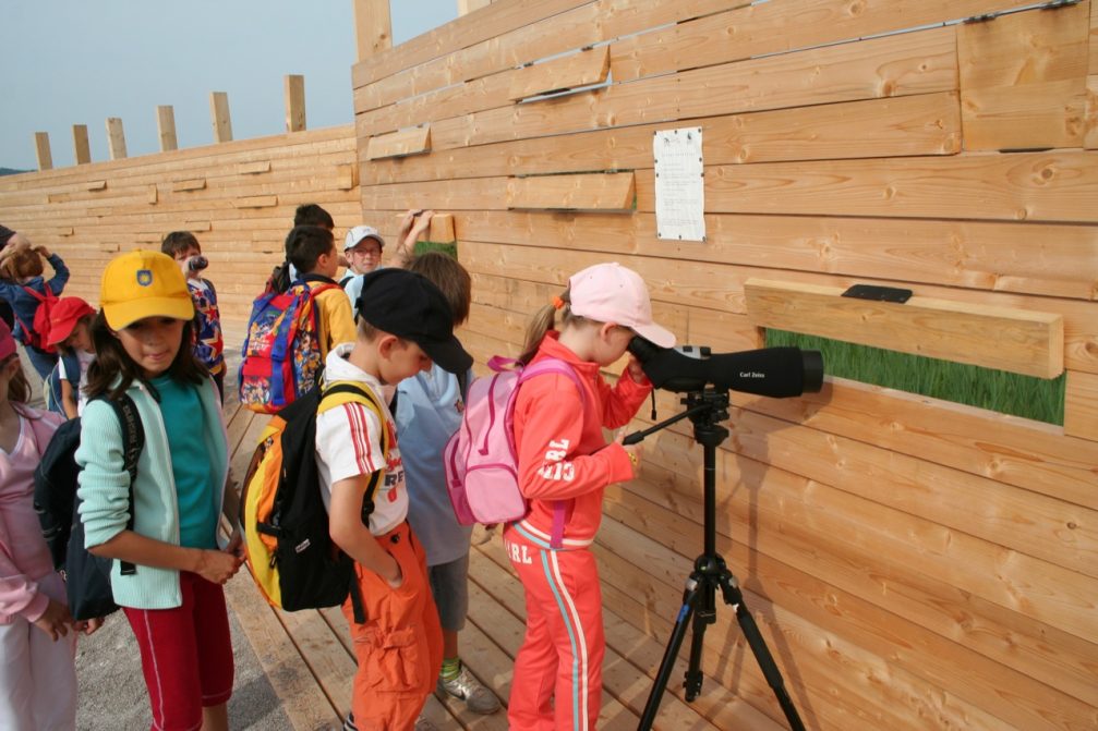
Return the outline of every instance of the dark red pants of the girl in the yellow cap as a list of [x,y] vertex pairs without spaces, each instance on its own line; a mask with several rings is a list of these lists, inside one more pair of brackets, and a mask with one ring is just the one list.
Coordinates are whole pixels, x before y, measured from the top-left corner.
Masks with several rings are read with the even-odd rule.
[[153,730],[198,730],[202,708],[233,695],[233,640],[225,593],[198,574],[179,574],[183,604],[175,609],[123,607],[141,648]]

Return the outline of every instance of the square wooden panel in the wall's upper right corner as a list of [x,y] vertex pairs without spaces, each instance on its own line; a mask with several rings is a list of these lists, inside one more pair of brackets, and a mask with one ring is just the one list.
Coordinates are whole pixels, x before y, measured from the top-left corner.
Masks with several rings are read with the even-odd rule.
[[1089,10],[1084,2],[957,26],[965,149],[1083,145]]

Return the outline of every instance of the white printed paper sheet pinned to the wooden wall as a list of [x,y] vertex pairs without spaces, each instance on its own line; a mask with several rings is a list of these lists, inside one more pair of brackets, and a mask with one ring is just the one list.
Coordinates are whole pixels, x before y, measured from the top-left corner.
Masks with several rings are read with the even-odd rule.
[[661,130],[652,138],[656,159],[656,235],[705,240],[702,127]]

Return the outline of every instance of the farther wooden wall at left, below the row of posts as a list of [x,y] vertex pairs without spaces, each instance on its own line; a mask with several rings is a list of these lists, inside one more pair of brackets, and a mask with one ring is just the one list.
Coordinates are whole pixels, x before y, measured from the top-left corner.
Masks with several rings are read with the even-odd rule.
[[0,178],[0,223],[60,254],[71,271],[65,294],[92,303],[117,251],[159,250],[168,232],[193,232],[234,337],[302,203],[328,211],[340,241],[360,223],[350,126]]

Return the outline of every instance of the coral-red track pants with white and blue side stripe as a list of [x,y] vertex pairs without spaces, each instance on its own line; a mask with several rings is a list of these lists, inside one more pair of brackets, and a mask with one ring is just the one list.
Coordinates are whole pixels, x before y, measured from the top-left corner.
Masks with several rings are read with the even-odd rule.
[[514,526],[504,547],[526,589],[526,639],[507,720],[515,731],[594,729],[603,691],[603,600],[587,549],[553,551]]

